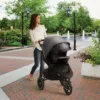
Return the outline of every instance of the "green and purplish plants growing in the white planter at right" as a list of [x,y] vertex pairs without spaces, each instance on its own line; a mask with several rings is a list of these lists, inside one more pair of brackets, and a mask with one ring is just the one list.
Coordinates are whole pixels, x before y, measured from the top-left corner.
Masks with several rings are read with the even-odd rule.
[[93,38],[94,46],[88,47],[84,53],[78,53],[76,58],[92,65],[100,65],[100,43]]

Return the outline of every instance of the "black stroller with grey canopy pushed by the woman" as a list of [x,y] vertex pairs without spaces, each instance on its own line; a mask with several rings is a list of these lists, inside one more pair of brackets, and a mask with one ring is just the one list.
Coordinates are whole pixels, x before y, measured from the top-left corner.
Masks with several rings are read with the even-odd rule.
[[73,76],[72,69],[68,64],[69,57],[67,51],[71,49],[70,43],[65,41],[60,36],[46,37],[39,44],[42,47],[44,61],[48,65],[48,68],[44,69],[43,77],[39,77],[37,80],[40,90],[44,89],[44,81],[59,80],[67,95],[72,93],[72,85],[70,78]]

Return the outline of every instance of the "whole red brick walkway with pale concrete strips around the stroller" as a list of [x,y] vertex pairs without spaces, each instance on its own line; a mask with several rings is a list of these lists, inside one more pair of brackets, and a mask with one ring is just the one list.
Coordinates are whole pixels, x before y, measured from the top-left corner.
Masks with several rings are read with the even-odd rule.
[[76,52],[90,44],[79,42],[77,51],[68,52],[74,72],[73,93],[70,96],[65,95],[59,81],[45,81],[45,88],[40,91],[37,86],[38,72],[33,81],[27,80],[33,65],[32,48],[0,53],[0,100],[100,100],[100,80],[82,77],[81,62],[74,59]]

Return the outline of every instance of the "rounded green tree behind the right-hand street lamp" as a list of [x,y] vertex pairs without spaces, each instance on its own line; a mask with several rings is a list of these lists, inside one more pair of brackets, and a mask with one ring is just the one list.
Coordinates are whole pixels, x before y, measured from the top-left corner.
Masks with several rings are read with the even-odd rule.
[[[70,7],[71,13],[68,16],[66,9]],[[77,10],[73,10],[77,8]],[[83,7],[78,2],[60,2],[58,3],[57,7],[58,11],[58,20],[59,20],[59,27],[66,28],[66,30],[74,31],[73,30],[73,13],[76,14],[76,31],[81,32],[83,29],[87,28],[88,26],[92,26],[92,21],[89,16],[89,12],[87,8]]]

